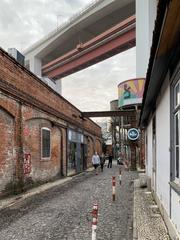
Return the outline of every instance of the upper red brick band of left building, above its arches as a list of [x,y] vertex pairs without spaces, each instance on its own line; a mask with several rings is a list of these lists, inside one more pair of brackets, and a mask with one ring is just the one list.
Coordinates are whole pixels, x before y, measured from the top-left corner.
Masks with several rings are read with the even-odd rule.
[[101,136],[101,130],[98,125],[90,119],[83,121],[79,116],[81,112],[66,101],[59,94],[47,87],[41,80],[31,74],[28,70],[20,67],[5,52],[0,49],[0,80],[5,80],[7,84],[12,85],[25,94],[26,98],[32,98],[32,102],[42,103],[49,111],[55,111],[59,117],[69,122],[85,128],[87,131]]

